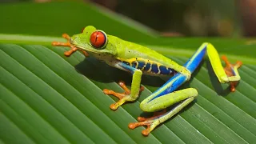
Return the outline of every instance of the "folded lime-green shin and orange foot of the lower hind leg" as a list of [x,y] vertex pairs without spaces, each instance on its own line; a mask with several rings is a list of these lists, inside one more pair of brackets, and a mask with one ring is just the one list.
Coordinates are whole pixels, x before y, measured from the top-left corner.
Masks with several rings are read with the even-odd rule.
[[[163,95],[162,97],[158,97],[152,102],[148,102],[146,104],[147,106],[145,105],[144,111],[165,109],[167,106],[171,106],[174,103],[180,103],[178,104],[178,106],[175,106],[172,110],[164,114],[159,114],[158,116],[154,116],[152,118],[138,117],[138,122],[130,123],[129,128],[134,129],[138,126],[147,126],[146,130],[142,130],[142,134],[147,136],[148,134],[150,134],[150,131],[154,130],[156,126],[173,117],[185,106],[187,106],[190,102],[192,102],[197,95],[197,90],[195,90],[194,88],[188,88],[184,90],[175,91],[174,93]],[[142,107],[143,106],[141,104],[141,108]]]

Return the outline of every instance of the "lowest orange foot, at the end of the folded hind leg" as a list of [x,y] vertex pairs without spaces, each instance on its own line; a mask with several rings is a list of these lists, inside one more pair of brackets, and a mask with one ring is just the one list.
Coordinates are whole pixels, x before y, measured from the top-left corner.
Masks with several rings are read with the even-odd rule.
[[150,131],[154,130],[161,122],[158,120],[159,117],[166,114],[166,109],[161,112],[155,112],[151,118],[138,117],[138,122],[132,122],[128,125],[130,129],[135,129],[138,126],[147,126],[146,130],[142,130],[144,136],[148,136]]

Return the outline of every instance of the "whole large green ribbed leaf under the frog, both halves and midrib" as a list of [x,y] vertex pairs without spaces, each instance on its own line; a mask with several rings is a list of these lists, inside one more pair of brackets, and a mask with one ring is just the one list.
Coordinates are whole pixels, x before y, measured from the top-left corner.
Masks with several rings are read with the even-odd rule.
[[[37,9],[34,13],[38,14],[34,22],[45,22],[42,25],[37,23],[39,28],[28,25],[26,22],[30,19],[18,20],[34,10],[31,6]],[[46,9],[56,12],[43,13]],[[141,31],[141,28],[138,29],[138,26],[120,23],[98,12],[93,6],[83,7],[77,3],[2,5],[0,10],[10,10],[10,14],[2,16],[4,21],[0,22],[2,33],[6,33],[0,34],[0,42],[5,43],[0,45],[0,142],[254,143],[256,58],[253,48],[256,45],[246,44],[248,39],[155,38]],[[22,13],[15,13],[17,10],[22,10]],[[85,21],[77,22],[74,20],[78,19],[70,17],[68,26],[60,25],[50,31],[53,23],[58,22],[54,17],[66,18],[66,14],[70,14],[69,10],[75,10],[78,16],[94,13],[96,16],[86,17],[87,20],[91,18],[86,24],[82,23]],[[11,18],[12,14],[17,19]],[[50,22],[40,19],[44,14],[50,17]],[[95,20],[98,18],[102,21]],[[100,24],[103,20],[109,22],[108,25]],[[8,22],[22,24],[21,27],[10,25],[8,28]],[[96,26],[98,23],[99,27],[103,27],[102,30],[109,30],[108,33],[120,38],[144,43],[180,64],[185,63],[202,42],[212,42],[231,62],[242,60],[244,64],[238,70],[242,80],[237,90],[230,93],[228,85],[218,83],[208,59],[205,58],[190,82],[180,88],[196,88],[198,98],[145,138],[141,134],[143,127],[130,130],[128,123],[136,122],[139,115],[148,115],[139,109],[139,102],[162,86],[165,82],[163,79],[166,78],[143,76],[142,85],[146,86],[146,90],[138,101],[112,111],[109,106],[117,98],[103,94],[102,90],[107,88],[122,92],[117,82],[124,80],[130,85],[130,74],[106,66],[104,62],[98,62],[94,58],[85,58],[78,52],[66,58],[63,52],[68,48],[50,46],[52,41],[64,41],[62,38],[30,35],[58,36],[63,32],[73,34],[78,30],[76,25],[82,27],[90,22]],[[119,29],[113,29],[109,25],[119,26]]]

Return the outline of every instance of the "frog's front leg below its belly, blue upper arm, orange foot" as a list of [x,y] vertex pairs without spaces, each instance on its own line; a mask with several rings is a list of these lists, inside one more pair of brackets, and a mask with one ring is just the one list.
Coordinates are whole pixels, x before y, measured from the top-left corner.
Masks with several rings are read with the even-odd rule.
[[138,98],[138,94],[140,91],[144,90],[141,84],[142,80],[142,70],[135,69],[134,67],[127,66],[126,64],[122,62],[118,62],[115,67],[129,71],[133,74],[132,82],[131,82],[131,90],[129,90],[124,82],[118,82],[118,85],[122,87],[123,90],[125,90],[124,93],[117,93],[113,90],[107,90],[104,89],[104,94],[112,94],[119,98],[119,101],[110,105],[110,108],[112,110],[117,110],[119,106],[121,106],[125,102],[133,102]]

